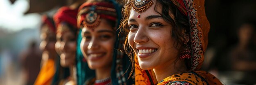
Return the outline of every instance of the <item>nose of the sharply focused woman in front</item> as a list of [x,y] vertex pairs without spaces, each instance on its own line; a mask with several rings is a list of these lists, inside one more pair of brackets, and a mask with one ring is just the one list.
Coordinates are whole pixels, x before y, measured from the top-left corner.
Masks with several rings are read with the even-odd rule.
[[133,41],[135,43],[145,43],[148,42],[148,36],[147,36],[147,28],[140,26],[139,29],[137,30],[135,37]]

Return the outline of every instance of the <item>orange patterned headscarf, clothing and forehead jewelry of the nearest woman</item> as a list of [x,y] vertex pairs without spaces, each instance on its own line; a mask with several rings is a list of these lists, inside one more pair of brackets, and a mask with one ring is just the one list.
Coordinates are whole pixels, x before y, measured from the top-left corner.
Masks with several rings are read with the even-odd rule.
[[[190,24],[189,39],[191,40],[191,68],[189,71],[174,74],[165,78],[157,85],[222,85],[212,74],[198,71],[204,61],[204,51],[208,44],[210,24],[204,11],[204,0],[171,0],[178,10],[188,17]],[[140,3],[140,6],[135,6]],[[134,11],[141,13],[152,5],[151,0],[132,0]],[[142,4],[142,5],[141,5]],[[137,8],[136,8],[137,7]],[[143,8],[144,7],[144,8]],[[138,18],[140,15],[138,16]],[[141,70],[135,57],[136,85],[155,84],[151,70]],[[136,65],[137,64],[137,65]],[[136,70],[137,69],[137,70]],[[145,76],[146,75],[146,76]]]

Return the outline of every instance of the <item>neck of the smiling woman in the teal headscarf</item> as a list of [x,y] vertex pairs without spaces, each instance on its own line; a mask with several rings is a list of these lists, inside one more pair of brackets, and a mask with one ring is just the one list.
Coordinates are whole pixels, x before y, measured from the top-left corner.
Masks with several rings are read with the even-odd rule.
[[110,67],[104,67],[104,68],[96,69],[95,72],[96,72],[96,80],[105,79],[107,77],[110,77],[111,66]]

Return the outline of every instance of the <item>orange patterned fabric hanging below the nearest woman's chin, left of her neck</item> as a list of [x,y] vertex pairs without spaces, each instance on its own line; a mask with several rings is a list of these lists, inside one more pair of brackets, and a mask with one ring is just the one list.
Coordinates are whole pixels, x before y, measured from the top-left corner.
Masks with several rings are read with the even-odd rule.
[[[155,73],[153,70],[143,70],[139,67],[138,58],[134,56],[134,66],[135,66],[135,85],[155,85],[157,84],[157,79],[155,78]],[[148,74],[146,73],[148,71]],[[150,76],[150,77],[149,77]],[[151,83],[150,79],[152,79]]]

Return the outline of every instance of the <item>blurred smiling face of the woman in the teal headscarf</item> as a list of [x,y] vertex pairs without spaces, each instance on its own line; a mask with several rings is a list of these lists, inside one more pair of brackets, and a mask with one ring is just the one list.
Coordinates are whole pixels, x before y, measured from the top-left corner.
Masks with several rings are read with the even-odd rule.
[[115,30],[105,19],[97,28],[82,29],[81,51],[90,69],[106,68],[112,64],[115,43]]

